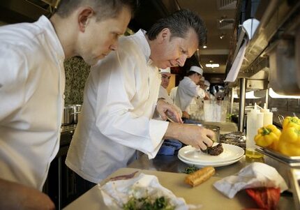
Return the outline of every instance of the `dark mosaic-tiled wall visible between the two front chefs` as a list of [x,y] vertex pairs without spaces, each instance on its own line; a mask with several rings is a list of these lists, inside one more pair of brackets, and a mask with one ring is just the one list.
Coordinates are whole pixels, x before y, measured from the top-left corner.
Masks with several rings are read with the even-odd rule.
[[81,57],[64,62],[66,70],[65,105],[82,104],[84,84],[89,76],[90,66]]

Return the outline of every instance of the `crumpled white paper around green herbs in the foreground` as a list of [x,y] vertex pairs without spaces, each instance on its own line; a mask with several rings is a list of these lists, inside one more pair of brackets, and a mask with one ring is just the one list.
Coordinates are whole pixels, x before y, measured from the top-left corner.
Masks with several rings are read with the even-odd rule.
[[141,173],[138,177],[126,180],[108,181],[103,186],[98,184],[103,196],[103,201],[110,209],[122,209],[130,196],[140,197],[161,197],[170,200],[170,204],[176,210],[199,208],[200,205],[188,205],[182,197],[176,197],[172,191],[164,188],[153,175]]

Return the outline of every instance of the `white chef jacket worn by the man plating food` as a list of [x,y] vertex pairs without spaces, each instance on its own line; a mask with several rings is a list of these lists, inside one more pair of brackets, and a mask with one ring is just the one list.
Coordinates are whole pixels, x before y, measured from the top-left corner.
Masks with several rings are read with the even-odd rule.
[[66,158],[84,179],[98,183],[126,167],[136,149],[154,158],[163,144],[168,122],[151,119],[161,80],[149,56],[140,30],[122,37],[117,52],[91,69]]

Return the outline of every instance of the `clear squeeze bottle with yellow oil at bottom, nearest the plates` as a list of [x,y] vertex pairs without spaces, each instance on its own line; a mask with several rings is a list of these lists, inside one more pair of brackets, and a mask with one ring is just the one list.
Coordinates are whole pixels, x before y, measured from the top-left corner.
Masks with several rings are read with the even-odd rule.
[[254,137],[257,130],[262,128],[264,122],[264,113],[257,109],[255,103],[254,109],[250,110],[247,114],[247,127],[246,127],[246,157],[248,158],[261,158],[263,155],[255,151],[256,145]]

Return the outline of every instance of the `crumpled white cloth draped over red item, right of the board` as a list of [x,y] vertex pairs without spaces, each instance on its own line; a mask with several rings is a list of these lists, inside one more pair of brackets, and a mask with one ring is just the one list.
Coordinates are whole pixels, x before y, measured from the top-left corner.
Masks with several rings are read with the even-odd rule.
[[229,198],[246,188],[280,188],[281,193],[287,190],[283,177],[275,168],[264,163],[252,163],[241,169],[239,173],[216,181],[213,186]]

